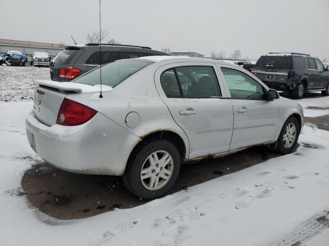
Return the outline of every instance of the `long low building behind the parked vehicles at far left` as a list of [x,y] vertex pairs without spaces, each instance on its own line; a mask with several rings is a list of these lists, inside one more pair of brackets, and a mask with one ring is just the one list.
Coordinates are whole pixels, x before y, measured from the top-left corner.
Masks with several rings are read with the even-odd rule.
[[64,48],[63,44],[49,44],[40,42],[30,42],[11,39],[0,39],[0,53],[6,53],[8,50],[20,51],[28,56],[28,64],[32,60],[33,52],[47,52],[50,57],[55,57]]

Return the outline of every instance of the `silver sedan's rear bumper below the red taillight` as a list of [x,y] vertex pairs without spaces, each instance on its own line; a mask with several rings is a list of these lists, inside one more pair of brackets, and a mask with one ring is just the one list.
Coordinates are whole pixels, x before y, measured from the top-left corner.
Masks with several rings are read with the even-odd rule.
[[31,111],[25,126],[29,144],[42,159],[75,173],[122,175],[133,147],[140,140],[100,113],[80,126],[48,127]]

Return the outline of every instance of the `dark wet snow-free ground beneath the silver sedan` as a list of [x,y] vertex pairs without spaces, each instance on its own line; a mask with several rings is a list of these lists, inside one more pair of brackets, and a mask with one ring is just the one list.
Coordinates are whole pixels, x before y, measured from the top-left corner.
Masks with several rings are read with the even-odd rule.
[[[267,148],[254,147],[224,158],[186,163],[170,194],[188,192],[191,186],[278,156]],[[133,196],[124,187],[122,177],[69,173],[46,162],[37,163],[25,172],[22,188],[32,206],[58,219],[85,218],[148,202]]]

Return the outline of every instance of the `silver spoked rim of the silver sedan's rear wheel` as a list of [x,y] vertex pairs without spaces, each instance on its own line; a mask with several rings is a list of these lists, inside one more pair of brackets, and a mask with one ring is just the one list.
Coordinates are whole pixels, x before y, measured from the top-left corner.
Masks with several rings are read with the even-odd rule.
[[168,183],[173,170],[172,156],[164,150],[155,151],[144,161],[140,171],[140,180],[146,189],[155,191]]

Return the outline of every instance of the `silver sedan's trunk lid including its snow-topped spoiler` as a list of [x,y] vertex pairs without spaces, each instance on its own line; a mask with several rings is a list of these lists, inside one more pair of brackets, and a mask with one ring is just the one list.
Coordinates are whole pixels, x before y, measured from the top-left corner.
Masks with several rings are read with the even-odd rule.
[[[37,80],[34,90],[33,110],[36,118],[47,126],[56,124],[57,115],[64,98],[72,93],[100,92],[100,86],[89,86],[71,82]],[[102,86],[102,91],[110,91],[112,87]]]

